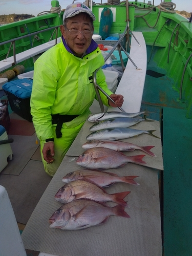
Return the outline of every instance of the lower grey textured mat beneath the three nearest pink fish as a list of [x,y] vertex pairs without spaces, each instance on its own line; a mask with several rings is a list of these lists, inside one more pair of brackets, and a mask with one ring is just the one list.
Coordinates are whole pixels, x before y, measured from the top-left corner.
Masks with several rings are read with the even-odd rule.
[[[130,208],[125,211],[131,218],[111,216],[100,226],[82,230],[49,228],[48,219],[62,204],[54,199],[63,186],[61,178],[79,166],[77,157],[66,156],[48,185],[27,223],[22,239],[26,249],[61,256],[161,256],[161,220],[157,170],[127,164],[110,169],[120,176],[138,175],[139,186],[116,183],[106,188],[108,193],[131,191],[125,200]],[[110,206],[115,205],[111,202]]]

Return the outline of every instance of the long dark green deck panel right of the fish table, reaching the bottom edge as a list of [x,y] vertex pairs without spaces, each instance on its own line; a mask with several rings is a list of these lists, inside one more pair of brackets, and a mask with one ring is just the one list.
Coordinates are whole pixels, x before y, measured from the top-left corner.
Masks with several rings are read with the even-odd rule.
[[192,255],[192,120],[163,108],[164,255]]

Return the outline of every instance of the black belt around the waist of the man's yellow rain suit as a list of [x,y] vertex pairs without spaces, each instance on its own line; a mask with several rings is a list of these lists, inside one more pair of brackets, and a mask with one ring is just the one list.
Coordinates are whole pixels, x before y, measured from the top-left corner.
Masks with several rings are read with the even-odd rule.
[[60,114],[55,114],[55,115],[51,115],[52,116],[52,124],[57,124],[56,126],[56,137],[57,138],[61,138],[62,137],[62,133],[61,133],[61,127],[62,124],[65,122],[70,122],[72,121],[74,118],[78,117],[79,115],[60,115]]

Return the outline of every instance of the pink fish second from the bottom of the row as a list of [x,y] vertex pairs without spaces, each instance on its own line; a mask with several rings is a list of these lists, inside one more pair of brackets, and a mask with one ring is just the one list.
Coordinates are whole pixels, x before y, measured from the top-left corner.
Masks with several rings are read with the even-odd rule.
[[129,194],[130,191],[108,194],[104,188],[99,187],[93,183],[83,180],[76,180],[62,186],[57,191],[55,199],[65,204],[73,200],[79,199],[93,200],[104,203],[112,201],[114,203],[121,204],[124,207],[127,207],[128,205],[123,200],[123,198],[125,198]]

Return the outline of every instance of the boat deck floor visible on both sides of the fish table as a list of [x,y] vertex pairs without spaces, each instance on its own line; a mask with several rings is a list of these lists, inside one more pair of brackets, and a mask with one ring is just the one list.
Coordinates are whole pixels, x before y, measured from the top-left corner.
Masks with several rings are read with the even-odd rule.
[[[147,70],[151,70],[150,65]],[[153,71],[165,74],[164,70]],[[146,75],[141,110],[151,112],[147,117],[161,123],[164,171],[159,173],[159,184],[163,252],[165,256],[190,255],[192,120],[185,118],[185,104],[178,100],[179,92],[168,89],[172,79],[166,74],[157,76],[153,72]],[[8,137],[16,143],[11,145],[14,158],[0,174],[0,184],[8,191],[22,232],[52,178],[44,172],[39,146],[35,144],[33,124],[11,113],[10,109],[9,112],[11,127]],[[29,144],[33,147],[31,152],[26,149]],[[18,160],[17,155],[22,157]]]

